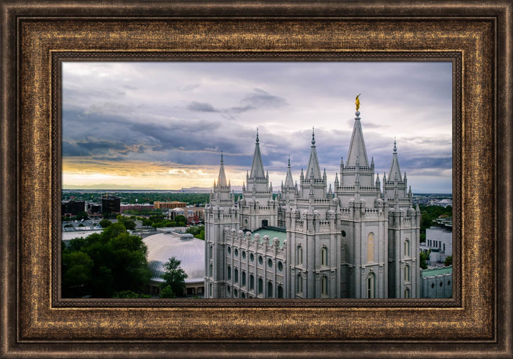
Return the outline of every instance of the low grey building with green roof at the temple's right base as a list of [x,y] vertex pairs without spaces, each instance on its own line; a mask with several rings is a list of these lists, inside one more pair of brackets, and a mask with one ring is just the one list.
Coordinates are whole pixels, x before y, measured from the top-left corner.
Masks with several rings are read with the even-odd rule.
[[421,270],[421,298],[452,297],[452,266]]

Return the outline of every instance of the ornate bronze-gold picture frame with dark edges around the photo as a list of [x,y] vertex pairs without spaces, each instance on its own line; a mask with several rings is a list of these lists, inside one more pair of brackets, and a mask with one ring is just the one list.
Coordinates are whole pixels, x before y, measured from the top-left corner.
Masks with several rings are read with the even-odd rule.
[[[1,2],[3,357],[511,357],[512,3]],[[452,61],[452,300],[65,300],[60,64]]]

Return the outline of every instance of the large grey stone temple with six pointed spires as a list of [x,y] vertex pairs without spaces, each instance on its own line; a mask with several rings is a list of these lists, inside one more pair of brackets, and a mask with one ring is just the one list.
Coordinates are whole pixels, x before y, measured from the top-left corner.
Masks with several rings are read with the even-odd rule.
[[[306,172],[290,158],[277,197],[257,131],[242,198],[234,198],[223,155],[205,208],[205,297],[420,297],[421,213],[394,141],[388,177],[374,179],[356,112],[347,159],[327,188],[312,133]],[[340,179],[339,179],[340,178]]]

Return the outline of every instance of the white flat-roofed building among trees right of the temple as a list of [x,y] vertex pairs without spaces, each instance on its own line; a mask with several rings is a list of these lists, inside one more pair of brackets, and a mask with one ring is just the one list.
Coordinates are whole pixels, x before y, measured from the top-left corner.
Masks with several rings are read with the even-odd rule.
[[433,226],[426,228],[426,242],[420,244],[420,250],[431,250],[430,266],[443,263],[447,256],[452,255],[452,218],[433,221]]

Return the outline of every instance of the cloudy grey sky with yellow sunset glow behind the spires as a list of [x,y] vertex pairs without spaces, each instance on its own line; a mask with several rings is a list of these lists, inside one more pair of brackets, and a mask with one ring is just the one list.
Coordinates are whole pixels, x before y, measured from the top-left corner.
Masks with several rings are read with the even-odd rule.
[[451,64],[442,62],[64,63],[63,188],[210,187],[221,151],[241,186],[257,127],[275,189],[289,154],[299,181],[312,126],[332,183],[361,93],[380,178],[396,136],[412,191],[450,193],[451,89]]

